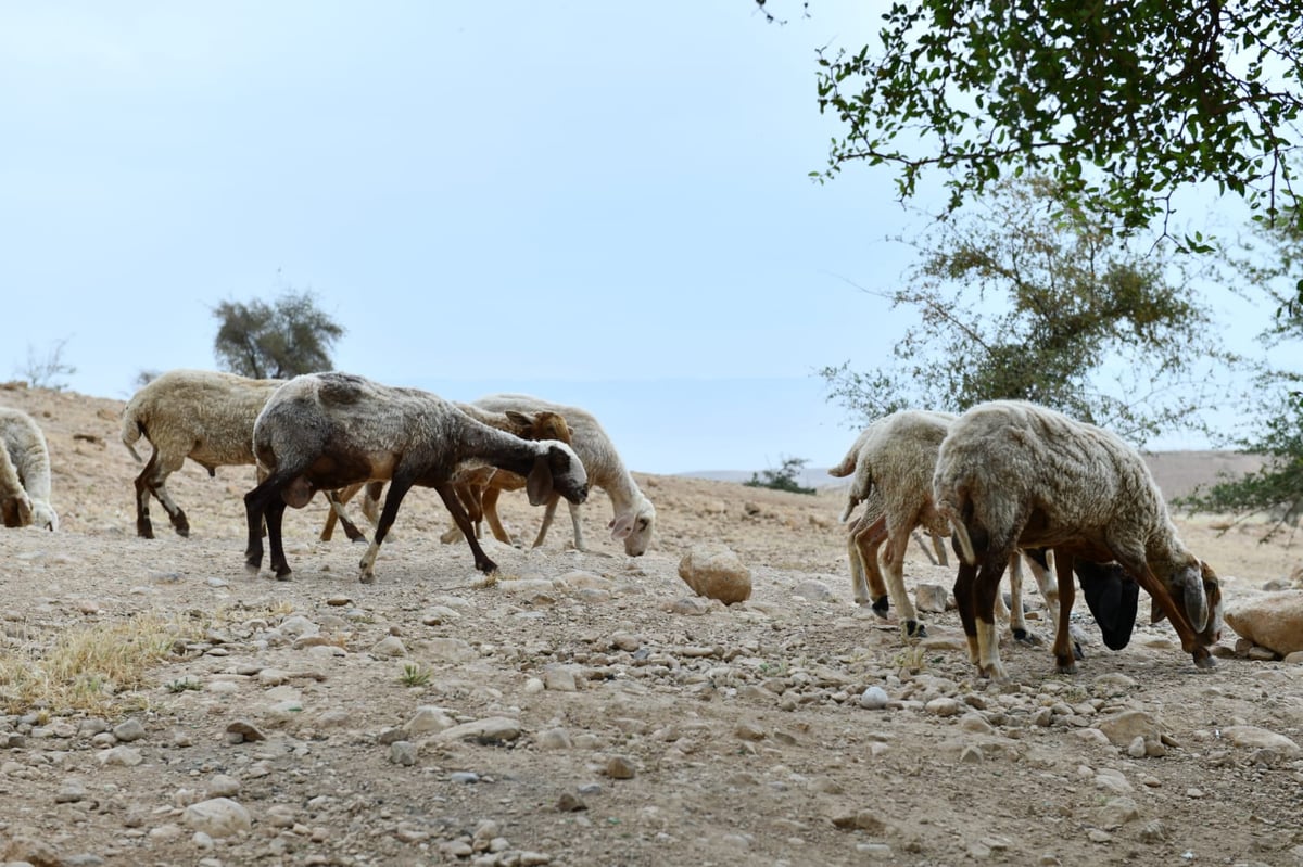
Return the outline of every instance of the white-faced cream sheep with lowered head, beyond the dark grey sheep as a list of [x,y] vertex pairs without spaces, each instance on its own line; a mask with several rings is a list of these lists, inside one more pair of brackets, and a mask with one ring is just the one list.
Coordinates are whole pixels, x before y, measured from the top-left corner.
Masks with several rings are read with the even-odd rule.
[[[624,467],[624,462],[615,450],[615,445],[592,413],[577,406],[550,404],[529,394],[490,394],[474,401],[474,405],[495,413],[509,409],[520,413],[550,410],[564,417],[566,423],[571,428],[571,445],[575,448],[575,453],[580,456],[580,460],[584,461],[589,484],[602,488],[611,499],[611,508],[615,510],[615,516],[607,525],[611,530],[611,538],[623,539],[624,553],[631,557],[638,557],[646,552],[655,527],[655,506],[638,489],[637,482],[633,480],[633,476]],[[494,527],[495,522],[500,526],[496,513],[496,495],[487,495],[483,505],[489,526]],[[575,547],[580,551],[586,551],[584,532],[580,526],[579,505],[572,501],[569,512],[571,525],[575,529]],[[534,538],[533,547],[537,548],[543,544],[555,513],[556,500],[554,499],[543,512],[543,522],[538,529],[538,535]]]

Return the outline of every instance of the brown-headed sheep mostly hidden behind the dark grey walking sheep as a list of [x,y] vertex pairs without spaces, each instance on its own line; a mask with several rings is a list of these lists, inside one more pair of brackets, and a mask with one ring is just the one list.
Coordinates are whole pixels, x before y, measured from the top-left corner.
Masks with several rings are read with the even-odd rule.
[[[566,426],[566,419],[558,413],[541,411],[541,413],[517,413],[515,410],[507,413],[490,413],[482,410],[478,406],[470,404],[460,404],[453,401],[456,406],[463,413],[470,415],[478,422],[483,422],[490,427],[496,427],[500,431],[507,431],[523,440],[560,440],[562,443],[569,444],[571,434],[569,428]],[[516,484],[519,482],[519,484]],[[493,497],[494,504],[493,510],[489,513],[490,529],[495,538],[502,542],[509,543],[509,536],[503,529],[502,522],[498,519],[496,513],[496,500],[498,493],[502,489],[516,491],[524,487],[525,480],[513,473],[503,473],[491,466],[476,466],[468,467],[457,473],[457,478],[453,482],[453,488],[457,492],[457,499],[461,500],[461,505],[466,509],[470,517],[470,523],[474,526],[476,538],[480,538],[480,522],[485,519],[485,509],[482,499]],[[515,487],[511,487],[515,486]],[[349,486],[339,493],[340,505],[348,502],[360,489],[362,484]],[[371,526],[379,519],[379,499],[380,492],[384,489],[383,482],[371,482],[366,486],[366,495],[362,497],[362,513],[366,514],[371,521]],[[321,539],[322,542],[330,542],[334,527],[335,527],[336,514],[332,510],[326,516],[326,526],[322,529]],[[455,534],[455,535],[451,535]],[[451,530],[443,534],[443,542],[452,542],[461,535],[461,529],[456,525]],[[357,539],[354,539],[357,542]]]

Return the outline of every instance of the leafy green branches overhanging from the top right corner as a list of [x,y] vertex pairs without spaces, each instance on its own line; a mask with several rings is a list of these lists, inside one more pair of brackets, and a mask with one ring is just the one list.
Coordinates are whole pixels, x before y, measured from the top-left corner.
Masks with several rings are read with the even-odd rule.
[[1044,173],[1123,232],[1166,233],[1204,181],[1268,216],[1293,203],[1300,0],[893,1],[882,21],[880,44],[820,52],[820,111],[846,129],[823,177],[885,163],[909,199],[938,169],[954,211]]

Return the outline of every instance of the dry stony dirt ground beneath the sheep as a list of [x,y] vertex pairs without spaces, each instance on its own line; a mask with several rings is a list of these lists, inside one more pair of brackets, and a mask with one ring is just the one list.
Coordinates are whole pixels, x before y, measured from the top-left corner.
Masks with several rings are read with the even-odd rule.
[[[1045,646],[1006,640],[1014,682],[992,685],[954,611],[907,647],[853,605],[840,493],[637,473],[658,514],[638,558],[595,492],[592,551],[563,512],[541,549],[486,542],[486,586],[417,489],[374,585],[361,545],[317,540],[319,501],[287,514],[278,582],[244,570],[251,467],[188,465],[192,536],[155,502],[138,539],[120,401],[0,405],[44,428],[63,521],[0,531],[0,655],[36,670],[81,630],[177,625],[111,712],[0,708],[0,862],[1303,864],[1303,665],[1229,629],[1201,672],[1166,624],[1111,652],[1079,613],[1087,657],[1059,676],[1033,622]],[[521,495],[503,514],[532,538]],[[1289,586],[1299,544],[1216,525],[1178,521],[1229,608]],[[749,601],[692,599],[678,566],[702,543],[751,568]],[[917,547],[906,577],[954,581]]]

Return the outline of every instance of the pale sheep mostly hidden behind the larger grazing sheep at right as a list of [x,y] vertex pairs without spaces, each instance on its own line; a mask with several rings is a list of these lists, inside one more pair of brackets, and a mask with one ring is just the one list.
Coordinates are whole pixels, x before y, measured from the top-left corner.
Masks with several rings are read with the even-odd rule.
[[[891,413],[866,427],[842,462],[829,470],[829,475],[834,476],[855,473],[842,510],[843,523],[860,502],[868,504],[847,535],[855,601],[872,605],[874,613],[886,617],[889,599],[894,600],[906,638],[926,635],[926,627],[919,622],[917,611],[904,590],[904,553],[911,534],[921,526],[933,539],[950,535],[949,523],[933,505],[932,473],[937,450],[955,418],[951,413],[928,410]],[[882,555],[887,568],[885,585],[878,565],[878,548],[883,540],[887,543]],[[1015,639],[1033,642],[1023,616],[1022,569],[1016,552],[1010,564],[1014,570],[1010,629]],[[1053,612],[1058,607],[1058,590],[1040,562],[1029,558],[1028,565],[1046,607]]]

